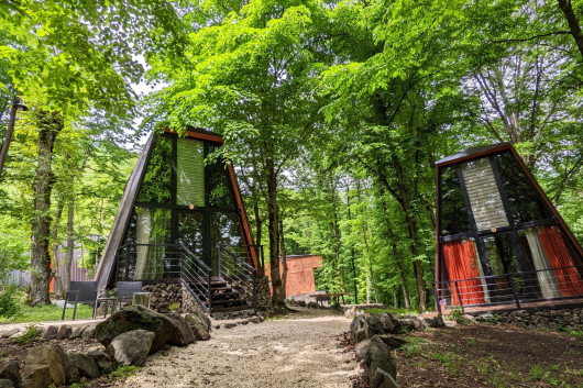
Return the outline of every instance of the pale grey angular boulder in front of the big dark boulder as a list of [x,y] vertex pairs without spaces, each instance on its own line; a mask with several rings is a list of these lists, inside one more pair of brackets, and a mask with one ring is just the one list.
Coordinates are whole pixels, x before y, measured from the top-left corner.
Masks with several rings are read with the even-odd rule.
[[108,345],[108,353],[120,365],[144,364],[155,334],[146,330],[133,330],[118,335]]

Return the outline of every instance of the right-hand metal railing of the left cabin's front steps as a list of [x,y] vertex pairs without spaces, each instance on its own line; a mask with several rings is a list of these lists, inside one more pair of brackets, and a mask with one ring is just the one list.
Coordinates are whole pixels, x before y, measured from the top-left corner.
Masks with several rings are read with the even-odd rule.
[[219,245],[219,277],[229,281],[231,287],[253,308],[257,304],[255,268],[246,263],[250,246]]

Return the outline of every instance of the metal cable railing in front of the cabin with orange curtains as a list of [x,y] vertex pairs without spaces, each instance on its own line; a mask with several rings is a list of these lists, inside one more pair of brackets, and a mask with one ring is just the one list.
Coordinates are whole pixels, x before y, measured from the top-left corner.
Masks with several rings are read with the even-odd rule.
[[[510,306],[583,297],[583,266],[557,267],[433,282],[439,313],[443,309]],[[514,304],[514,306],[513,306]]]

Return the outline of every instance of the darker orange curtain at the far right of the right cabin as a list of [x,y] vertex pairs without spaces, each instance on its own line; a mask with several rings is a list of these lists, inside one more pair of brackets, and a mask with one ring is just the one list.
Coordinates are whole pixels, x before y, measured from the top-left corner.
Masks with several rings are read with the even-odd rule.
[[576,268],[572,267],[571,255],[559,229],[557,226],[542,228],[538,234],[563,296],[583,295],[583,281]]

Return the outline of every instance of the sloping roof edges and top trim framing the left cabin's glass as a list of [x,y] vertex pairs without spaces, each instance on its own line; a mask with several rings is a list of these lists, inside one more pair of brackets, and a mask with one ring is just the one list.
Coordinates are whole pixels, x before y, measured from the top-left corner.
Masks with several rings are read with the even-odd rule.
[[[175,131],[172,131],[169,129],[165,129],[162,133],[176,134]],[[114,267],[116,267],[117,253],[118,253],[120,245],[123,243],[127,226],[130,222],[130,218],[132,215],[134,203],[136,201],[136,197],[141,189],[141,185],[142,185],[144,175],[146,173],[146,168],[150,163],[151,154],[153,152],[153,148],[155,147],[155,137],[157,135],[158,135],[157,133],[152,133],[150,135],[130,175],[130,178],[128,179],[128,182],[125,184],[123,195],[120,201],[120,206],[118,208],[116,219],[111,226],[111,232],[109,234],[108,242],[106,243],[106,247],[103,248],[101,260],[99,262],[99,266],[96,271],[95,280],[97,281],[98,289],[103,289],[105,287],[107,287],[108,284],[112,279],[112,275],[113,275]],[[212,133],[210,131],[205,131],[205,130],[199,130],[199,129],[190,128],[188,129],[188,131],[186,131],[184,136],[186,138],[193,138],[193,140],[198,140],[202,142],[211,142],[211,143],[216,143],[220,145],[224,144],[223,138],[220,135]],[[234,192],[234,201],[237,202],[235,207],[241,217],[241,221],[242,221],[241,228],[242,228],[242,233],[244,234],[245,243],[248,245],[253,245],[253,236],[249,228],[249,222],[248,222],[245,209],[243,206],[243,201],[241,199],[239,185],[237,182],[234,169],[231,164],[227,164],[227,170],[228,170],[228,176],[232,185],[232,190]],[[252,256],[251,258],[253,262],[252,263],[253,266],[257,268],[258,262],[257,262],[256,253],[251,252],[251,256]]]

